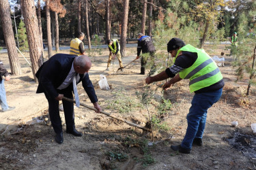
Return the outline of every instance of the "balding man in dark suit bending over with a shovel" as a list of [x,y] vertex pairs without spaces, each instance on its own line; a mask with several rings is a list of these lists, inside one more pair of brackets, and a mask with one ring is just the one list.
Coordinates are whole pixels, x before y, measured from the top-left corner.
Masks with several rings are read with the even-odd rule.
[[[76,81],[76,84],[82,82],[83,88],[87,92],[91,103],[94,104],[98,112],[101,110],[100,105],[98,105],[94,86],[91,80],[89,80],[88,71],[90,68],[91,61],[88,56],[55,54],[48,59],[35,74],[39,82],[36,92],[44,92],[48,100],[49,115],[56,133],[55,140],[59,144],[63,143],[63,131],[61,118],[59,116],[59,101],[61,101],[63,97],[73,99],[73,79]],[[65,100],[62,100],[62,103],[66,120],[66,132],[74,136],[82,136],[82,133],[75,129],[74,104]]]

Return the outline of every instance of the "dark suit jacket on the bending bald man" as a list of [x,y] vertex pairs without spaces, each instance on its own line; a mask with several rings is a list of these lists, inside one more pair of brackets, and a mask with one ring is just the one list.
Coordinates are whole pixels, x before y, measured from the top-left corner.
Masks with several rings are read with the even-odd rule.
[[[35,73],[35,76],[38,78],[38,90],[36,93],[44,92],[48,97],[55,99],[59,95],[57,88],[63,83],[66,79],[68,73],[74,61],[76,55],[71,54],[55,54],[48,61],[46,61]],[[79,82],[83,83],[83,88],[87,92],[91,103],[98,101],[94,86],[89,80],[88,73],[83,77],[83,74],[80,74],[81,78]],[[78,82],[78,83],[79,83]],[[71,90],[72,83],[68,88]]]

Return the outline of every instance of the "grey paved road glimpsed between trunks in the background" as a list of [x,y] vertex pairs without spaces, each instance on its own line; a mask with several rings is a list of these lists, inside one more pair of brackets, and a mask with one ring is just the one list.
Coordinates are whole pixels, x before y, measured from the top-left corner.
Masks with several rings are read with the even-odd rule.
[[[211,44],[210,42],[205,42],[205,44]],[[222,41],[221,44],[231,44],[229,41]],[[126,48],[130,47],[137,47],[136,43],[133,44],[126,44]],[[91,46],[91,48],[107,48],[106,45],[100,45],[100,46]],[[88,46],[85,46],[85,49],[88,49]],[[48,48],[45,48],[44,51],[47,51]],[[55,50],[55,47],[53,47],[53,50]],[[60,46],[59,50],[70,50],[70,46]],[[7,49],[4,48],[0,50],[0,53],[7,53]]]

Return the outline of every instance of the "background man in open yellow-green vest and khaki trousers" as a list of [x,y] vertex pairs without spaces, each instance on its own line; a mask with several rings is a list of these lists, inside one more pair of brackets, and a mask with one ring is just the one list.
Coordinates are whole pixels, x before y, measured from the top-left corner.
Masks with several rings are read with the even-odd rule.
[[117,56],[120,69],[122,70],[123,63],[122,63],[122,59],[121,59],[120,45],[118,43],[118,40],[117,39],[109,39],[108,44],[109,44],[109,61],[108,61],[108,65],[106,67],[106,71],[109,71],[109,66],[111,64],[111,60],[112,60],[112,58],[115,59],[115,56]]

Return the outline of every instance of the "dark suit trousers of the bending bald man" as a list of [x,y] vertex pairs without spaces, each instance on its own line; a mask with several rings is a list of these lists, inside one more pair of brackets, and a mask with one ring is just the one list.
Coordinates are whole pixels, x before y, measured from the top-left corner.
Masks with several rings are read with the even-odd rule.
[[[59,94],[63,94],[64,97],[67,97],[69,99],[73,99],[72,95],[72,89],[65,88],[63,90],[57,90]],[[46,93],[44,93],[46,96],[46,99],[48,100],[48,109],[49,109],[49,115],[51,124],[53,126],[53,130],[55,133],[61,133],[62,132],[62,124],[61,124],[61,117],[59,116],[59,101],[52,99],[51,97],[48,97]],[[74,125],[74,104],[70,101],[62,100],[63,103],[63,110],[65,115],[65,121],[66,121],[66,129],[68,131],[71,131],[75,128]]]

